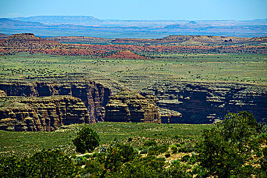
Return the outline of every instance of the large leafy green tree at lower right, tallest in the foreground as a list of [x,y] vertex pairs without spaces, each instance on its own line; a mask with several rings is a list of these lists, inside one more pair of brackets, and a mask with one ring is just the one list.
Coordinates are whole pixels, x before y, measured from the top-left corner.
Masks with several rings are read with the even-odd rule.
[[255,169],[248,162],[259,151],[262,124],[251,113],[240,111],[228,113],[217,126],[204,130],[197,145],[200,166],[215,177],[251,177]]

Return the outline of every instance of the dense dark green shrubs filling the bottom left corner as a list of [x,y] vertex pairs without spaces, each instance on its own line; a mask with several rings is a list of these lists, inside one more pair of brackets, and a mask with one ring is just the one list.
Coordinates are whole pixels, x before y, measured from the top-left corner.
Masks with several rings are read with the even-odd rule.
[[58,150],[0,159],[0,177],[74,177],[78,173],[72,159]]

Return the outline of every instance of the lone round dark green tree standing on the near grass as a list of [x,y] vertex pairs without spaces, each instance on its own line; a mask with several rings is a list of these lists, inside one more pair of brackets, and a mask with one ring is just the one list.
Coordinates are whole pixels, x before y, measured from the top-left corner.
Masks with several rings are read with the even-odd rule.
[[77,137],[74,138],[73,144],[76,146],[76,152],[85,153],[93,151],[99,146],[99,135],[91,128],[82,128],[78,133]]

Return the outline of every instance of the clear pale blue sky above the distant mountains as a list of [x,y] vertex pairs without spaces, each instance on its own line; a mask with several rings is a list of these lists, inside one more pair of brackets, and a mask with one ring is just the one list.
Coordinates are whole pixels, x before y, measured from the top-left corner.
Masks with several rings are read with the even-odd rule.
[[0,0],[0,17],[84,15],[121,20],[267,18],[267,0]]

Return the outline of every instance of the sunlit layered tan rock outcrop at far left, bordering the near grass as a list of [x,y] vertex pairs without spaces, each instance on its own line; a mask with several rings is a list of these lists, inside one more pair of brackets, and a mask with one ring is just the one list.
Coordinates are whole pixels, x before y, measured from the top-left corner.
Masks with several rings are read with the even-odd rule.
[[0,130],[53,131],[90,122],[84,103],[71,96],[0,98]]

